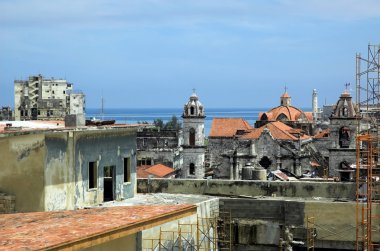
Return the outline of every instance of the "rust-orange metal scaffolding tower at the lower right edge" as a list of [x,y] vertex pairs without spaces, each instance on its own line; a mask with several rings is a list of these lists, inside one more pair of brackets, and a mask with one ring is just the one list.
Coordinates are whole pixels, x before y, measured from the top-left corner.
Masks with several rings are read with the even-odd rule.
[[379,138],[356,140],[356,250],[380,250]]

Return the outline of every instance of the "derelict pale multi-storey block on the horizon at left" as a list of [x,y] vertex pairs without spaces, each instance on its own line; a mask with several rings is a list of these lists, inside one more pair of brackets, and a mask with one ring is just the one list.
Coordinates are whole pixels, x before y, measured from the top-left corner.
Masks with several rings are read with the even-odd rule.
[[63,120],[68,114],[84,114],[84,94],[73,84],[42,75],[14,81],[15,120]]

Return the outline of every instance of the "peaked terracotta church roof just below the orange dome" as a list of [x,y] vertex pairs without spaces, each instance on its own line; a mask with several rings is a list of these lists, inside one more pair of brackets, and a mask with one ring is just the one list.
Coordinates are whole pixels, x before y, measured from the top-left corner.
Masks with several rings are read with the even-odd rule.
[[[285,125],[280,121],[270,122],[262,127],[252,129],[247,134],[242,135],[241,139],[258,139],[263,133],[264,129],[268,129],[274,139],[280,140],[299,140],[294,134],[302,133],[300,129],[294,129]],[[304,134],[301,139],[308,139],[310,136]]]

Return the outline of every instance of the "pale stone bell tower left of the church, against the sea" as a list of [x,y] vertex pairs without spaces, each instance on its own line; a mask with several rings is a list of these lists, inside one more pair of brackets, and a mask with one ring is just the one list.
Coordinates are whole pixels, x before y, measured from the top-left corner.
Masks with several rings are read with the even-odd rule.
[[205,160],[205,113],[198,96],[193,90],[183,109],[183,165],[181,178],[203,179]]

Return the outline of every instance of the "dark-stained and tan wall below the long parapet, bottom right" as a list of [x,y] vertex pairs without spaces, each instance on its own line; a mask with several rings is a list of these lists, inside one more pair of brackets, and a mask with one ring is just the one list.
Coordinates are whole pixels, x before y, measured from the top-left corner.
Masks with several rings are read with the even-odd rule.
[[[285,227],[294,240],[306,242],[309,217],[314,217],[317,248],[355,249],[355,202],[220,198],[220,210],[231,212],[235,223],[234,250],[260,250],[257,248],[260,245],[278,245],[279,238],[284,239]],[[379,235],[373,236],[374,241],[379,241]]]

